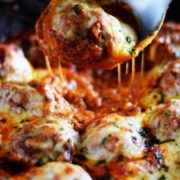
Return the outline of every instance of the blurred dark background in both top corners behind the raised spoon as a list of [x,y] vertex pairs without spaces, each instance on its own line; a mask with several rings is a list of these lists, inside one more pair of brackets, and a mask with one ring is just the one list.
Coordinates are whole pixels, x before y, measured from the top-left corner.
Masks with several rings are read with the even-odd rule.
[[[32,29],[48,3],[49,0],[0,0],[0,42]],[[180,22],[180,0],[172,1],[166,21]]]

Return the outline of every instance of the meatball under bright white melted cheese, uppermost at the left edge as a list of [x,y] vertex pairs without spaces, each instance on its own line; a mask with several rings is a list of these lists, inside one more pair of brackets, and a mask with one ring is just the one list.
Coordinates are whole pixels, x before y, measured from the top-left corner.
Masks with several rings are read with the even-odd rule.
[[4,81],[18,82],[33,79],[33,69],[23,51],[16,45],[0,45],[0,78]]

